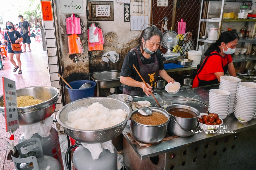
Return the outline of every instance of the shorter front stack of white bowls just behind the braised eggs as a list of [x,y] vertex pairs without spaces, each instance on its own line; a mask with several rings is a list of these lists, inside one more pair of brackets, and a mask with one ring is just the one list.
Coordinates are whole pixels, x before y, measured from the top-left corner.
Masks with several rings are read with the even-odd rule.
[[[256,84],[256,83],[255,83]],[[221,89],[211,89],[209,93],[209,112],[217,113],[224,119],[229,114],[230,92]]]

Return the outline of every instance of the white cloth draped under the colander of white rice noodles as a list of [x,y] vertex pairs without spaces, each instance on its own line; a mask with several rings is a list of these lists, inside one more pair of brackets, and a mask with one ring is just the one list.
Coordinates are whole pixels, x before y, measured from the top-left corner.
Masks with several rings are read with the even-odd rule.
[[114,145],[112,144],[111,140],[104,143],[87,144],[81,142],[81,144],[84,148],[87,148],[91,152],[91,157],[94,160],[99,158],[100,154],[103,152],[103,149],[108,149],[110,153],[115,152]]

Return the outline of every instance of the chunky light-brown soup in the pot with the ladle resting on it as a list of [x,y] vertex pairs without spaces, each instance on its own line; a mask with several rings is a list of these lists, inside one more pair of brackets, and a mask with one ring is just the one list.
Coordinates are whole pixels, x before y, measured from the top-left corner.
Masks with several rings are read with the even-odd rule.
[[156,111],[153,111],[149,116],[143,116],[139,112],[136,112],[131,116],[131,119],[143,125],[161,125],[168,120],[165,115]]

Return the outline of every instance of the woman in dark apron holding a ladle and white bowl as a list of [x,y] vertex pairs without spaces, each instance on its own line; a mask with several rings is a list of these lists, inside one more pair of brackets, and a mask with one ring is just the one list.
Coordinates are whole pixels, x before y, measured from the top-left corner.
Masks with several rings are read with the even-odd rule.
[[[120,72],[120,82],[124,84],[123,94],[132,96],[147,95],[157,87],[158,76],[168,83],[174,82],[164,70],[161,52],[158,49],[162,33],[156,26],[144,29],[138,39],[139,46],[131,49],[124,59]],[[133,64],[147,83],[143,83]]]

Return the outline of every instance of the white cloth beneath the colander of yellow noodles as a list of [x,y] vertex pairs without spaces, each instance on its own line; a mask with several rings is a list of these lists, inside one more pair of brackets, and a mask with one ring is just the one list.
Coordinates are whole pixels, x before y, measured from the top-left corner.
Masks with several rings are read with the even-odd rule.
[[31,125],[21,125],[20,130],[24,133],[24,139],[30,139],[33,134],[39,134],[41,137],[48,137],[52,127],[53,118],[50,116],[44,121],[33,123]]

